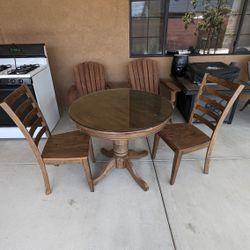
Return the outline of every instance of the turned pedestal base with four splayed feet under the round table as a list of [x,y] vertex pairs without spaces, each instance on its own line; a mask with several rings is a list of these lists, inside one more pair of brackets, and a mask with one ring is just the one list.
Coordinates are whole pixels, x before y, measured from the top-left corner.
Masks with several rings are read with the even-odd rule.
[[143,150],[137,153],[136,151],[128,150],[127,140],[116,140],[113,141],[113,150],[102,149],[102,153],[108,157],[112,157],[112,159],[94,179],[94,184],[104,178],[113,168],[126,168],[136,183],[144,191],[148,190],[148,184],[136,173],[131,162],[131,159],[138,159],[147,155],[147,151]]

